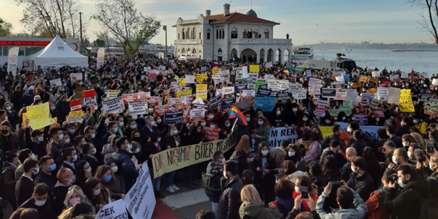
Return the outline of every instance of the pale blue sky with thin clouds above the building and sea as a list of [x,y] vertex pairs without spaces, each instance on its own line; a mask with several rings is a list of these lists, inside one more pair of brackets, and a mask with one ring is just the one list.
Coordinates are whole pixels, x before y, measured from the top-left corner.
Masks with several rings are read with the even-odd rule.
[[[178,17],[195,19],[205,14],[223,12],[223,4],[230,3],[230,12],[246,13],[251,0],[135,0],[138,11],[155,15],[168,26],[167,42],[176,38]],[[91,15],[96,12],[96,0],[76,0],[81,6],[83,21],[87,21],[86,35],[96,39],[94,31],[102,26]],[[3,8],[0,17],[13,24],[13,32],[23,31],[20,23],[22,6],[15,0],[0,0]],[[5,9],[7,8],[7,9]],[[274,38],[286,38],[290,34],[294,45],[325,42],[382,42],[382,43],[433,43],[429,32],[418,23],[423,8],[411,7],[408,0],[253,0],[252,8],[259,18],[281,23],[274,27]],[[151,43],[165,43],[161,29]]]

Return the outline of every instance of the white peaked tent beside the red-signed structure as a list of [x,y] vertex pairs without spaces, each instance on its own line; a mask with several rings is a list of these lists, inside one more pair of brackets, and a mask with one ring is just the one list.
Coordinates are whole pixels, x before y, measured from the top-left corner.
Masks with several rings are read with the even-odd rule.
[[88,57],[83,56],[68,46],[58,35],[44,49],[29,56],[30,66],[46,69],[55,66],[88,67]]

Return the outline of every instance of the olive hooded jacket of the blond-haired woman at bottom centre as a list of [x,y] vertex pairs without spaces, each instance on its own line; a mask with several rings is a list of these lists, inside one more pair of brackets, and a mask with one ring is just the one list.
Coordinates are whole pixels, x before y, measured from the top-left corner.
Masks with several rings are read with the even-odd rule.
[[240,206],[239,217],[243,219],[244,216],[248,216],[252,219],[281,219],[283,215],[274,209],[271,211],[263,203],[245,202]]

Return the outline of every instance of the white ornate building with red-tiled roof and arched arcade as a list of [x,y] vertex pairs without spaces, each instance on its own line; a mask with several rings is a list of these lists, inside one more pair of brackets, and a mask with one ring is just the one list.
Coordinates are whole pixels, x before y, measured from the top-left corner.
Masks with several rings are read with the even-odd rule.
[[254,10],[246,14],[229,12],[223,5],[223,14],[211,15],[211,10],[197,19],[178,18],[175,57],[198,56],[207,60],[290,62],[292,39],[274,39],[274,26],[279,23],[257,17]]

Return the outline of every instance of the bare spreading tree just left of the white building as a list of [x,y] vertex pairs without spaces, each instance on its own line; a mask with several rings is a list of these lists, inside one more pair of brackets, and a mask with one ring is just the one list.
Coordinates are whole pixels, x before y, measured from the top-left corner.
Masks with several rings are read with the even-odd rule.
[[137,12],[132,0],[101,0],[96,6],[98,12],[93,18],[122,45],[129,58],[137,53],[144,41],[152,39],[160,30],[161,21],[155,16]]

